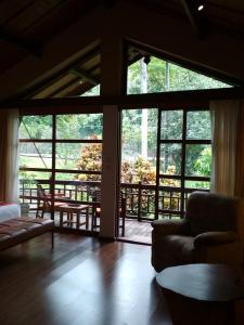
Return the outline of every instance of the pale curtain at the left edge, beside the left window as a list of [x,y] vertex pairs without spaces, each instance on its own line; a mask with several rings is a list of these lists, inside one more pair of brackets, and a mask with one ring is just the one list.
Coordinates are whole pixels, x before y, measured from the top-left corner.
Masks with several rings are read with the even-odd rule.
[[7,181],[5,199],[11,203],[18,202],[18,109],[10,109],[8,114],[7,134]]

